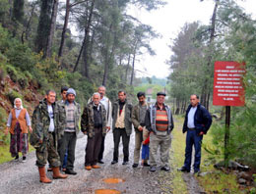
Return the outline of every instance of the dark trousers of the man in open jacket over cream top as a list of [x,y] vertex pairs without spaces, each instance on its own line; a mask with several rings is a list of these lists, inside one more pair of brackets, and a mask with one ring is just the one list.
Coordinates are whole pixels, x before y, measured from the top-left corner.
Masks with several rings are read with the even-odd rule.
[[113,160],[118,161],[118,148],[119,148],[119,142],[120,137],[122,137],[123,142],[123,155],[124,155],[124,162],[129,161],[129,142],[130,142],[130,136],[126,134],[125,128],[115,128],[113,131],[114,136],[114,154],[113,154]]

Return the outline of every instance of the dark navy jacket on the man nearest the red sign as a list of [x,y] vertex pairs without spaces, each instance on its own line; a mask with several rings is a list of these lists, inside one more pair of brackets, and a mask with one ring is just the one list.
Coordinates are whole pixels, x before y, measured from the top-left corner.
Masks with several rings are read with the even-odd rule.
[[[192,106],[189,105],[188,109],[186,111],[185,121],[183,124],[183,133],[188,130],[188,127],[187,127],[188,113],[189,113],[191,107]],[[194,117],[194,124],[195,124],[197,133],[200,133],[201,131],[203,131],[205,134],[207,133],[208,129],[210,128],[210,126],[212,124],[212,116],[207,111],[207,109],[204,106],[202,106],[201,104],[198,104],[198,106],[197,106],[197,110],[196,110],[195,117]]]

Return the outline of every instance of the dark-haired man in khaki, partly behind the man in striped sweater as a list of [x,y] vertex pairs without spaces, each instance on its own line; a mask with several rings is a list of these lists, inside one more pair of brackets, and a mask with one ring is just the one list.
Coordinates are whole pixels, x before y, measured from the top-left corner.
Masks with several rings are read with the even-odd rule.
[[[137,94],[139,104],[133,107],[132,111],[132,122],[135,128],[135,148],[134,148],[134,163],[133,168],[137,168],[140,160],[140,151],[143,141],[143,128],[145,127],[145,116],[148,109],[146,103],[145,93],[139,92]],[[144,163],[147,166],[147,162]]]

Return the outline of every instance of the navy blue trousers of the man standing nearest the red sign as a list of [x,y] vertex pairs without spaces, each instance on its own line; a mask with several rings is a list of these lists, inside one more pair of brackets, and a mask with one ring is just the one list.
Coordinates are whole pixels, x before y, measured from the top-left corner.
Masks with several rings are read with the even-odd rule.
[[195,129],[187,130],[185,162],[184,162],[184,167],[187,170],[190,170],[190,167],[191,167],[193,145],[195,147],[194,170],[200,170],[202,140],[203,140],[203,135],[198,135]]

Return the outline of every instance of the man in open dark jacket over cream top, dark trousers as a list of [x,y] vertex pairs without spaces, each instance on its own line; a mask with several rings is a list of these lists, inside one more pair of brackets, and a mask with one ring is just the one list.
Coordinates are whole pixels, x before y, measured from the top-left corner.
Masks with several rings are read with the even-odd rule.
[[123,142],[123,165],[127,165],[129,161],[129,142],[130,134],[132,133],[132,105],[126,100],[126,93],[124,91],[118,92],[118,100],[113,104],[112,110],[112,128],[114,138],[114,153],[112,165],[118,163],[118,149],[120,137]]

